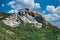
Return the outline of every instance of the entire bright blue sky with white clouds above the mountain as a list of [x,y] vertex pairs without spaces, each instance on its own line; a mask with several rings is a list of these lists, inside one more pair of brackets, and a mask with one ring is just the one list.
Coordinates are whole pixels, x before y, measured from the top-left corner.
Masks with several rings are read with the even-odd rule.
[[0,12],[18,12],[32,8],[41,12],[45,19],[60,28],[60,0],[0,0]]

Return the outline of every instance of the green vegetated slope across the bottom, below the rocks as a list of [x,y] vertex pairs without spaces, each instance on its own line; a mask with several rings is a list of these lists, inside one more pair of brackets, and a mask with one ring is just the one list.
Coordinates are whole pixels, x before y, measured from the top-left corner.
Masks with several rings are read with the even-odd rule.
[[[10,30],[15,34],[7,33]],[[57,40],[60,29],[52,27],[36,28],[31,24],[20,24],[18,27],[10,27],[0,22],[0,40]],[[59,39],[60,40],[60,39]]]

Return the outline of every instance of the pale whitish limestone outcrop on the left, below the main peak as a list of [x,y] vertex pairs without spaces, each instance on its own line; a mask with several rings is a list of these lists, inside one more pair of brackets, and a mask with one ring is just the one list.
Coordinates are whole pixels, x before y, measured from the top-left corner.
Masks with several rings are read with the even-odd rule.
[[15,27],[18,26],[18,24],[20,23],[20,21],[17,21],[17,15],[16,14],[12,14],[9,18],[6,18],[6,20],[2,20],[6,25]]

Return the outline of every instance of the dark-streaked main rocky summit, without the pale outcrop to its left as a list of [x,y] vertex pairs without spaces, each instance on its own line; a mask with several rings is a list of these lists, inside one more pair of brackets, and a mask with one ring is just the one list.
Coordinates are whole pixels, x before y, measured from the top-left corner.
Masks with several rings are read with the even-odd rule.
[[48,24],[48,22],[45,20],[44,16],[33,9],[25,8],[19,11],[19,16],[23,17],[24,22],[29,23],[42,23],[42,24]]

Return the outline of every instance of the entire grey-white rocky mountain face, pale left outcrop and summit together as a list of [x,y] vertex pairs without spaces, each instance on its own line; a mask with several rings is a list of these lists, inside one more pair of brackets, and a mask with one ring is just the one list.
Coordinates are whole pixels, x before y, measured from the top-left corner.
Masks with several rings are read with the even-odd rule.
[[18,26],[20,23],[34,23],[36,26],[41,27],[42,24],[48,24],[40,12],[31,8],[21,9],[18,13],[12,13],[10,17],[3,20],[3,22],[10,26]]

